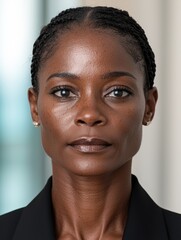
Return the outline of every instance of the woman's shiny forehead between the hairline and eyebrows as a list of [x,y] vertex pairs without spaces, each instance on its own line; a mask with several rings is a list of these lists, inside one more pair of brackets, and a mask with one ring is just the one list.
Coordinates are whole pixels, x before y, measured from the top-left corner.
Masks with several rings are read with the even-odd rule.
[[125,39],[112,30],[74,26],[59,34],[52,56],[43,65],[46,71],[75,74],[124,70],[143,75],[125,44]]

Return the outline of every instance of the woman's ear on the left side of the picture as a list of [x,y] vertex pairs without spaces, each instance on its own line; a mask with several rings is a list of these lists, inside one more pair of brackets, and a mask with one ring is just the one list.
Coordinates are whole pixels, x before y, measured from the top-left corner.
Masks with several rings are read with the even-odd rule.
[[33,88],[28,89],[28,100],[30,104],[30,110],[31,110],[31,117],[33,122],[39,124],[39,116],[38,116],[38,94],[35,92]]

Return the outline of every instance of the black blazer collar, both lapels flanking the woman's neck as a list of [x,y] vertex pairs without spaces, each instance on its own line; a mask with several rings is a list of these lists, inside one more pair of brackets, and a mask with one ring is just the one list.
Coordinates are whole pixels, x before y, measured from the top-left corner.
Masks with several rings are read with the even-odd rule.
[[[55,240],[51,201],[52,179],[42,192],[24,208],[13,240]],[[135,176],[125,227],[124,240],[168,240],[161,208],[148,196]]]

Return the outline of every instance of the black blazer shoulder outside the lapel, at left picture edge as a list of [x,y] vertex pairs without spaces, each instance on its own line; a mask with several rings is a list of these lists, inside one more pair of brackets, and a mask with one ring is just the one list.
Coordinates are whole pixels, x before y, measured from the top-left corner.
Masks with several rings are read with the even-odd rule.
[[23,208],[0,216],[0,239],[10,240],[21,218]]

